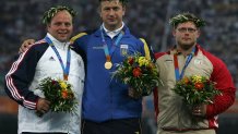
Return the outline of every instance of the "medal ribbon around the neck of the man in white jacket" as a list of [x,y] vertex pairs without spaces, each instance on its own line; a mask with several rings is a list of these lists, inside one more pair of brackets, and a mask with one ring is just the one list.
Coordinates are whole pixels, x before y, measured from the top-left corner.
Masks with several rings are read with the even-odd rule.
[[68,47],[68,52],[67,52],[67,66],[64,68],[64,64],[63,64],[63,61],[62,61],[62,58],[60,57],[60,53],[59,51],[56,49],[56,47],[53,46],[52,41],[50,40],[49,37],[45,37],[45,40],[49,44],[49,46],[52,48],[52,50],[55,51],[60,64],[61,64],[61,68],[63,70],[63,80],[64,81],[68,81],[68,76],[69,76],[69,73],[70,73],[70,60],[71,60],[71,52],[70,52],[70,47]]

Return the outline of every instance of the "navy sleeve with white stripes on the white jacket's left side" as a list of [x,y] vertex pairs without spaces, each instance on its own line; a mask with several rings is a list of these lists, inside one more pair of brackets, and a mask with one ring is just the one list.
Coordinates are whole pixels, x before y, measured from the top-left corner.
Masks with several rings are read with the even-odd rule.
[[35,75],[37,62],[37,52],[34,47],[31,47],[19,56],[5,75],[5,93],[19,105],[28,109],[36,109],[38,100],[38,96],[28,89]]

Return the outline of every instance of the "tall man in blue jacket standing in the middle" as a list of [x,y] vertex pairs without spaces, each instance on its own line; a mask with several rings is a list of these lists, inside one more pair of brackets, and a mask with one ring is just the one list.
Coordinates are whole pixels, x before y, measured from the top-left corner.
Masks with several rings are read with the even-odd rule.
[[142,99],[129,97],[127,85],[111,78],[116,64],[128,54],[150,57],[143,39],[123,24],[127,0],[99,0],[103,24],[94,33],[74,37],[74,47],[86,56],[83,95],[83,134],[141,134]]

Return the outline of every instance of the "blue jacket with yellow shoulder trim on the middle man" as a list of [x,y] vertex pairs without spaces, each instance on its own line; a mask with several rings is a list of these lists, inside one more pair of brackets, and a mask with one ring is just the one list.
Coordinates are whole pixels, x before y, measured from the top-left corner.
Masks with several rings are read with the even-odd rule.
[[[130,98],[128,86],[111,80],[111,73],[116,71],[116,64],[122,62],[128,54],[140,52],[150,57],[148,48],[143,39],[131,35],[124,24],[115,33],[115,37],[109,37],[111,34],[102,25],[94,33],[81,33],[74,37],[74,47],[86,54],[83,118],[93,122],[138,119],[140,123],[142,99]],[[109,69],[105,64],[108,60],[105,44],[112,63]]]

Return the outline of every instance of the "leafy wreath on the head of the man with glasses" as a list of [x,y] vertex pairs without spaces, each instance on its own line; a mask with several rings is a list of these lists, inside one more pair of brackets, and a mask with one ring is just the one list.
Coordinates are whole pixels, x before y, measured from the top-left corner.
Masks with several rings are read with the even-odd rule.
[[205,21],[194,16],[191,13],[181,13],[169,20],[169,24],[176,27],[180,23],[193,22],[197,27],[205,26]]

